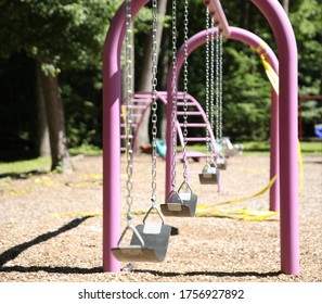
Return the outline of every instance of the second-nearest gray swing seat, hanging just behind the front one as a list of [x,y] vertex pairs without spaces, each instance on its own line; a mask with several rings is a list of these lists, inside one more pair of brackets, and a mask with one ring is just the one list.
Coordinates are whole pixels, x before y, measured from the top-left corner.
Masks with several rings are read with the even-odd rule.
[[[180,193],[183,185],[188,186],[189,192]],[[193,217],[195,215],[197,195],[192,193],[189,183],[183,181],[179,191],[171,191],[166,203],[160,205],[162,213],[165,216]]]

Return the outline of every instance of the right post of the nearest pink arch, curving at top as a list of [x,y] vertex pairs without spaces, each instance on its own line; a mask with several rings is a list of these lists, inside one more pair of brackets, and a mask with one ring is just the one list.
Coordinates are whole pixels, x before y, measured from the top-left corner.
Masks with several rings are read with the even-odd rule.
[[275,36],[280,62],[281,268],[299,274],[297,46],[289,20],[279,1],[252,0]]

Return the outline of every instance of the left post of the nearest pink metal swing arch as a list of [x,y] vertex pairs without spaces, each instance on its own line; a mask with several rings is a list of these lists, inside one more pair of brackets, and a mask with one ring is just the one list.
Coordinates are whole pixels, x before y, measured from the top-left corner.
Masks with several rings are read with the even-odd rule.
[[[149,0],[132,1],[132,16]],[[111,249],[120,237],[120,51],[125,35],[125,4],[113,18],[103,52],[103,270],[119,271]]]

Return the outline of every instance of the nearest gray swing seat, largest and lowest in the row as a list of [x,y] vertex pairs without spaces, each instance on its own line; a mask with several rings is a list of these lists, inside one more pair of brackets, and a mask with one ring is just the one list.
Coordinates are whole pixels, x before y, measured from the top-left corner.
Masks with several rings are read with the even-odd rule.
[[[118,246],[112,249],[114,256],[118,261],[158,263],[165,259],[169,238],[170,236],[178,235],[178,229],[164,224],[164,221],[144,223],[145,218],[142,225],[129,225],[123,232]],[[120,245],[120,242],[128,230],[133,231],[130,244]]]

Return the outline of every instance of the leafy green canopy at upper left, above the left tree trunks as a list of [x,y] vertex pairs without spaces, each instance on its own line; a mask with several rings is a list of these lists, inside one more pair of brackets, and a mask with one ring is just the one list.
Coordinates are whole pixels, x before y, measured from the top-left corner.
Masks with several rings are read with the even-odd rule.
[[1,53],[23,49],[52,75],[64,68],[98,65],[107,21],[113,14],[111,3],[107,0],[2,0]]

